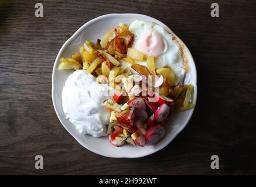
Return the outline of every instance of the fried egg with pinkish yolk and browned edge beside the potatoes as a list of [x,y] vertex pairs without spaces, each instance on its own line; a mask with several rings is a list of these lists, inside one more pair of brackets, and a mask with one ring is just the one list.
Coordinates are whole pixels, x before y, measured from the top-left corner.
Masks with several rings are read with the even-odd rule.
[[[161,68],[168,65],[175,73],[175,84],[183,82],[185,77],[185,65],[183,62],[183,51],[178,41],[162,26],[156,23],[135,20],[129,26],[134,34],[132,48],[144,53],[145,57],[155,56],[155,67]],[[146,61],[136,61],[146,65]]]

